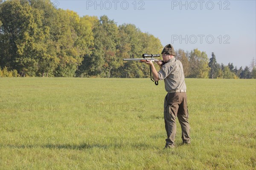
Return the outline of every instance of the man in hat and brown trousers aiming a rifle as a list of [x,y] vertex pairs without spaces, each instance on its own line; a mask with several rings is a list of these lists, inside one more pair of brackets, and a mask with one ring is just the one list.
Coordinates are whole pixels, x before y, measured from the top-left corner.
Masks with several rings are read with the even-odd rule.
[[166,45],[161,54],[163,62],[157,62],[160,67],[158,73],[150,60],[147,60],[146,64],[150,65],[155,81],[164,80],[167,91],[164,99],[164,122],[167,133],[165,148],[173,148],[175,147],[176,117],[181,125],[183,144],[190,144],[186,84],[182,63],[175,59],[172,45]]

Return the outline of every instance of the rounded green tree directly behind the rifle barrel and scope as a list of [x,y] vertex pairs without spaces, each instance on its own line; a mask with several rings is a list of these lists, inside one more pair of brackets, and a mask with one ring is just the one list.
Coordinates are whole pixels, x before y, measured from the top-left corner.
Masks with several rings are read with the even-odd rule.
[[[162,48],[159,39],[151,34],[142,33],[133,24],[119,26],[119,37],[121,41],[119,41],[117,50],[119,56],[123,56],[122,58],[140,58],[143,53],[159,53]],[[122,67],[118,69],[121,77],[149,77],[148,65],[138,62],[122,63]]]

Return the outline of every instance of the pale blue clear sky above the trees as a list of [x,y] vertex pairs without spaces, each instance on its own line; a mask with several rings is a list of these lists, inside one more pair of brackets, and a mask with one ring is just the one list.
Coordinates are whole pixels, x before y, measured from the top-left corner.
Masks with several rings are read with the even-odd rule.
[[198,48],[217,62],[250,66],[256,59],[256,0],[51,0],[56,8],[107,15],[134,24],[175,50]]

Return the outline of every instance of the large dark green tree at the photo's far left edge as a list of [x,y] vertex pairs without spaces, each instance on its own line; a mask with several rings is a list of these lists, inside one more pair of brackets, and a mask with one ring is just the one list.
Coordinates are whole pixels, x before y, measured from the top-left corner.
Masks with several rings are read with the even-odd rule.
[[1,3],[0,20],[0,66],[17,69],[22,76],[35,76],[47,34],[40,11],[29,1],[10,0]]

